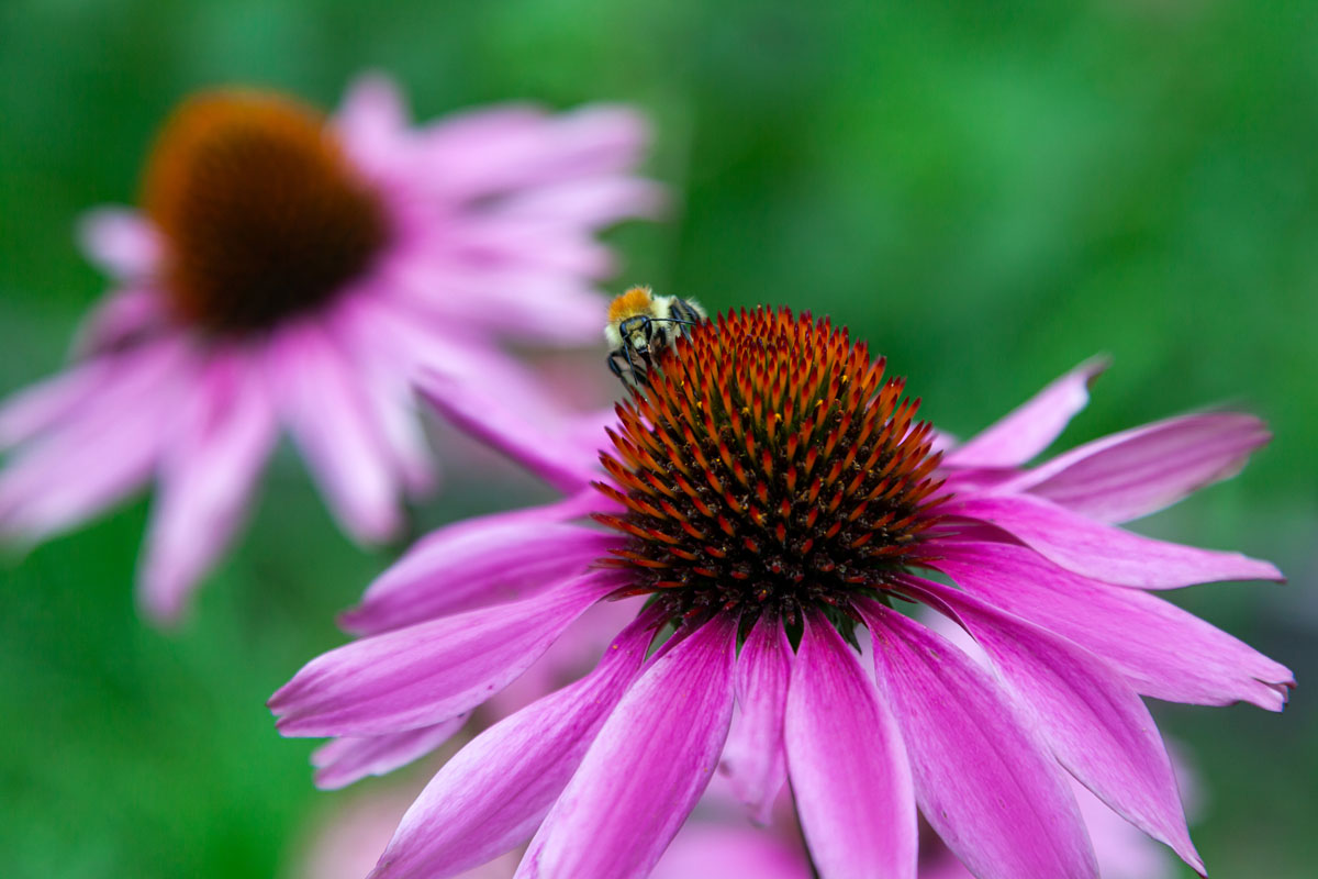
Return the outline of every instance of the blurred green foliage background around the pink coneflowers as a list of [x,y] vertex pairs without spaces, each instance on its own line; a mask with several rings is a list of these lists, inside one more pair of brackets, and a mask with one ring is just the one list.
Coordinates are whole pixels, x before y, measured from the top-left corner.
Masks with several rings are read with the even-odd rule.
[[[1068,444],[1222,402],[1263,414],[1276,440],[1242,477],[1141,527],[1281,564],[1285,586],[1174,598],[1301,689],[1282,716],[1155,710],[1202,775],[1210,871],[1315,875],[1313,4],[7,0],[0,391],[58,369],[104,290],[75,217],[133,199],[174,101],[244,82],[333,107],[365,67],[422,119],[639,104],[676,207],[612,236],[618,282],[832,314],[957,434],[1095,352],[1115,365]],[[453,476],[426,518],[546,497],[480,482]],[[279,739],[264,700],[341,642],[333,611],[387,555],[348,544],[286,453],[192,622],[161,634],[130,592],[145,510],[0,561],[5,876],[286,875],[353,796],[312,789],[311,743]]]

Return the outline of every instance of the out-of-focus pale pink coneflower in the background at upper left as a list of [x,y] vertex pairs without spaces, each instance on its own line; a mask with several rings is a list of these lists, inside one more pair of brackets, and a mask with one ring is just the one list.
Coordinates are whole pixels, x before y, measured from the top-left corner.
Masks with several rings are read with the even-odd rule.
[[594,232],[651,213],[633,112],[510,105],[410,127],[380,76],[336,116],[285,95],[188,98],[141,211],[84,246],[115,279],[76,362],[0,410],[0,536],[37,542],[152,478],[141,601],[175,618],[286,428],[343,527],[380,542],[434,481],[420,365],[534,398],[502,340],[593,339]]

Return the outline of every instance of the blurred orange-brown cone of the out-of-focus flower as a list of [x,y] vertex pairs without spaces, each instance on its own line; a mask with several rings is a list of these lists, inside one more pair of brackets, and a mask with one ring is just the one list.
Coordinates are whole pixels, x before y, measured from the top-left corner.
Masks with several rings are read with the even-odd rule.
[[324,304],[389,237],[324,117],[264,92],[185,101],[156,142],[142,200],[165,237],[175,312],[217,333]]

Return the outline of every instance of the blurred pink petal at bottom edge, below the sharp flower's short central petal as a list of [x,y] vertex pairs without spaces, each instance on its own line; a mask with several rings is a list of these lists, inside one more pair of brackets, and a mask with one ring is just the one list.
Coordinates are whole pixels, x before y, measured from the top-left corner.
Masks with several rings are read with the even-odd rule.
[[687,824],[650,879],[811,879],[803,853],[770,830]]

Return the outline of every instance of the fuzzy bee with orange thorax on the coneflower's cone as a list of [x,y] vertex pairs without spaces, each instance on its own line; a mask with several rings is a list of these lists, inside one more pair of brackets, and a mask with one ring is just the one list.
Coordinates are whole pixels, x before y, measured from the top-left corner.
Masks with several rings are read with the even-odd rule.
[[693,299],[656,297],[650,287],[631,287],[609,306],[604,337],[609,343],[609,369],[623,383],[642,386],[654,356],[677,341],[683,327],[705,320]]

